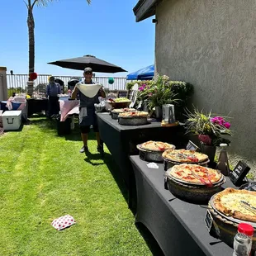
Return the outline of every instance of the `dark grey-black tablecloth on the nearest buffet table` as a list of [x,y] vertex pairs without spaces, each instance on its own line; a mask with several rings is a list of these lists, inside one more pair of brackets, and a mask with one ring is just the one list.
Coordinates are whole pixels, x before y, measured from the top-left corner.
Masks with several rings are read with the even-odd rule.
[[[148,168],[139,156],[130,156],[137,187],[136,221],[143,223],[166,255],[232,255],[231,249],[211,237],[204,218],[206,206],[182,201],[164,189],[164,166]],[[227,178],[223,187],[234,187]]]

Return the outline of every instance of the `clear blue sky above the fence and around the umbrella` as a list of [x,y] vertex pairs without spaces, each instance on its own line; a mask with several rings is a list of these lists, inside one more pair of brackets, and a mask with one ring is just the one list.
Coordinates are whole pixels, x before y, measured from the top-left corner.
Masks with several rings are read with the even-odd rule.
[[[150,18],[135,22],[132,9],[137,2],[92,0],[88,6],[86,0],[59,0],[35,7],[36,73],[82,74],[47,63],[88,54],[128,73],[154,64],[154,23]],[[28,73],[26,16],[22,0],[1,2],[0,66],[6,66],[7,73]],[[96,74],[126,77],[128,73]]]

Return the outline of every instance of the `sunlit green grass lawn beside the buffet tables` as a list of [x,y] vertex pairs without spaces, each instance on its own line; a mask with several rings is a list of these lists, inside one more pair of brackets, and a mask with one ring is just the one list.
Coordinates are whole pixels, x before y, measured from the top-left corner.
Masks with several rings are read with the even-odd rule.
[[[78,130],[59,137],[45,118],[0,136],[1,255],[152,255],[111,154],[103,161],[89,140],[88,158],[81,146]],[[77,223],[55,230],[66,214]]]

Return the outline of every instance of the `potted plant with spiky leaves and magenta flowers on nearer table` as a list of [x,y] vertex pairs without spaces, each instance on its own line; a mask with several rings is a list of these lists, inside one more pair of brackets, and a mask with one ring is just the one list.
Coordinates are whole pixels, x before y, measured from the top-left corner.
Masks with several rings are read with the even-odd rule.
[[187,111],[185,122],[187,134],[198,135],[201,151],[208,155],[211,163],[214,161],[216,146],[230,145],[230,140],[224,137],[224,135],[232,135],[228,119],[229,117],[226,116],[213,116],[211,111],[206,114],[197,109],[193,112]]

